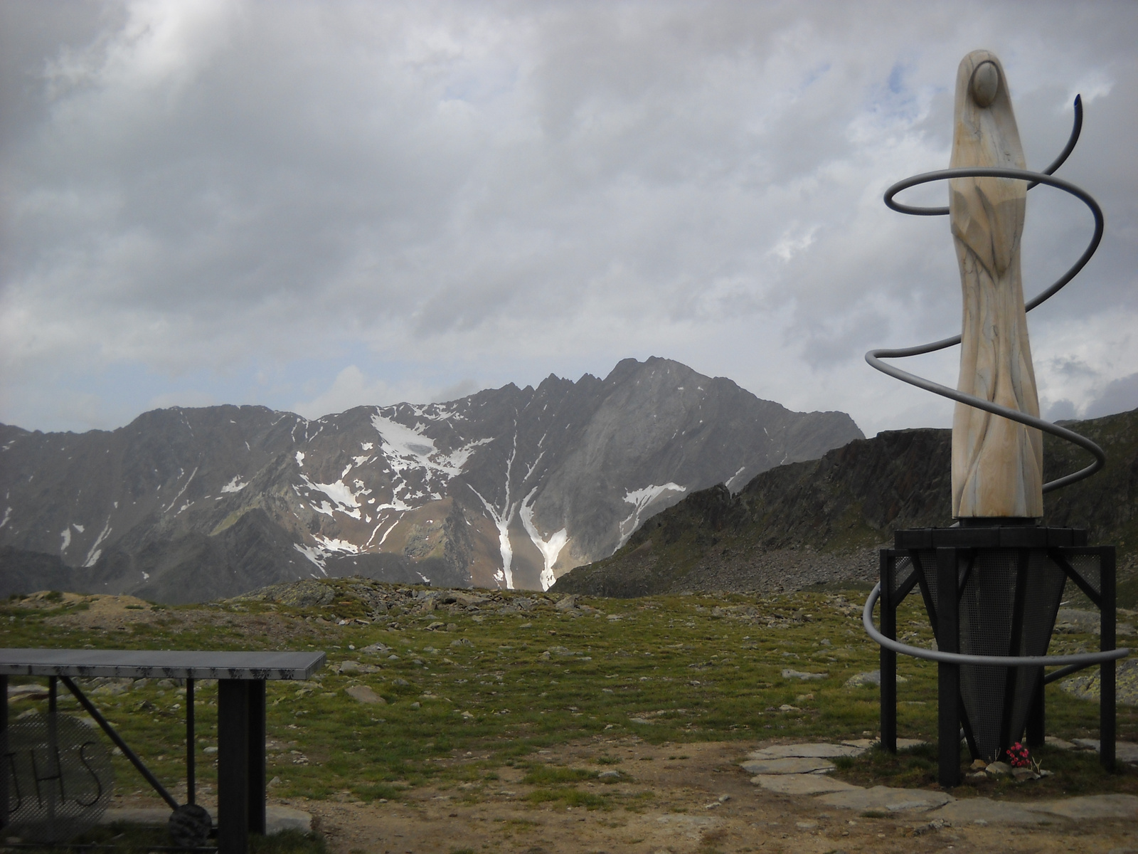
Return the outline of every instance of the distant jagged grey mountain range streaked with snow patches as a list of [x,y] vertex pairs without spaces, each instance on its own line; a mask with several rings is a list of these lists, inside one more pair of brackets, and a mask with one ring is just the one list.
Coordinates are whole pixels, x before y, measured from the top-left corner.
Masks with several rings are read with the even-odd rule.
[[71,573],[63,586],[168,602],[310,575],[544,589],[693,491],[860,437],[844,413],[663,359],[312,421],[209,407],[109,433],[0,425],[0,588]]

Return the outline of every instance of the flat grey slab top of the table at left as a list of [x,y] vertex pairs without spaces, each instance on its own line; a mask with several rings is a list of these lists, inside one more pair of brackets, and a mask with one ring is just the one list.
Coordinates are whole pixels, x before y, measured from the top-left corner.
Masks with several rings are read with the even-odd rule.
[[151,649],[0,649],[0,675],[133,679],[307,679],[323,652]]

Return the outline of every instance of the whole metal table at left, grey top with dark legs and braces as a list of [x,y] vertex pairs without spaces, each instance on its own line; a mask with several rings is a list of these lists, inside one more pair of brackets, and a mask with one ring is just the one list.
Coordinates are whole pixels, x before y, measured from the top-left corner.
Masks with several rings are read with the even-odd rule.
[[[147,782],[170,804],[174,797],[123,741],[73,681],[74,676],[185,680],[188,803],[195,802],[193,682],[217,680],[217,852],[245,854],[248,835],[265,832],[265,681],[307,679],[323,652],[214,652],[135,649],[0,649],[0,755],[8,754],[8,676],[48,676],[49,713],[56,681],[75,696]],[[8,823],[8,774],[0,773],[0,822]]]

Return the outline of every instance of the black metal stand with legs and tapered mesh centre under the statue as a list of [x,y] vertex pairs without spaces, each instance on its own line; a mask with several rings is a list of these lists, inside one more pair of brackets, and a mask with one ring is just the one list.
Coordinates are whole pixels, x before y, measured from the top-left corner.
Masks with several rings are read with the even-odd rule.
[[[921,590],[937,647],[976,656],[1044,656],[1064,590],[1099,609],[1100,647],[1115,648],[1114,547],[1088,547],[1085,531],[990,525],[898,531],[882,549],[881,633],[897,639],[897,609]],[[1095,666],[1095,665],[1091,665]],[[1114,662],[1102,668],[1100,761],[1114,766]],[[960,738],[973,758],[1003,759],[1024,739],[1044,744],[1045,685],[1081,670],[938,664],[941,786],[960,781]],[[881,744],[897,750],[897,652],[881,650]]]

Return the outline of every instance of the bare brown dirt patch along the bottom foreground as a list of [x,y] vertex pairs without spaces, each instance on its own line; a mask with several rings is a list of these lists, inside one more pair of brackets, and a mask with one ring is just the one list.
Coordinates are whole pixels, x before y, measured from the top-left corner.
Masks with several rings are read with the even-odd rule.
[[[531,789],[518,783],[521,771],[511,779],[511,769],[477,793],[421,788],[398,803],[284,803],[313,813],[337,854],[1138,852],[1132,828],[1121,821],[932,828],[920,814],[881,819],[819,811],[808,797],[773,795],[752,786],[735,765],[750,748],[740,742],[654,747],[597,740],[539,757],[594,769],[593,761],[602,754],[622,757],[618,767],[633,779],[615,786],[629,796],[651,793],[636,812],[534,804],[525,799]],[[668,758],[677,755],[686,758]],[[578,787],[587,791],[602,785]]]

